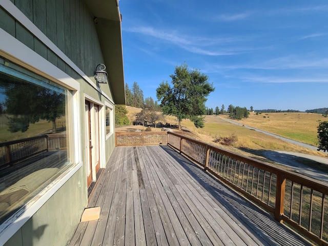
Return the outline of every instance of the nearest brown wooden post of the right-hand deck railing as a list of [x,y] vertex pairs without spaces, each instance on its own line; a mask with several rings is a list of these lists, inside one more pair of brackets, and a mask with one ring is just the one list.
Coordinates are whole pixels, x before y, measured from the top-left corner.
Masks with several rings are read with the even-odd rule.
[[281,215],[283,215],[284,209],[285,188],[286,179],[284,178],[284,174],[279,172],[277,174],[275,219],[280,223],[282,223]]

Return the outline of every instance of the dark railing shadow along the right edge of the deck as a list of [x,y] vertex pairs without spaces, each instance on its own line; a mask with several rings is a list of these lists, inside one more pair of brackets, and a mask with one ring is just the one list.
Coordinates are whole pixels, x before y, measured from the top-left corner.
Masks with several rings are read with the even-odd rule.
[[185,156],[180,155],[169,146],[161,146],[161,148],[169,153],[205,192],[212,195],[218,206],[226,211],[237,224],[242,224],[264,244],[311,245],[298,234],[274,220],[271,214],[224,185]]

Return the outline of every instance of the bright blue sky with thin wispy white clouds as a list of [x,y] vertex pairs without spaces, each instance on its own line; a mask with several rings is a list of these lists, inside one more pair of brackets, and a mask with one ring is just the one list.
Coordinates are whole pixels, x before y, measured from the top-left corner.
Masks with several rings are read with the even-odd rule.
[[156,98],[184,61],[209,108],[328,107],[327,1],[120,0],[125,82]]

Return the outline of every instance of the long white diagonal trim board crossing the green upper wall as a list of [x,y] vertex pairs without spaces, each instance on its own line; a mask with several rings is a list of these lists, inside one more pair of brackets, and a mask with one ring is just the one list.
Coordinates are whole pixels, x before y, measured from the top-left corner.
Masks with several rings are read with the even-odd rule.
[[[83,77],[94,89],[99,93],[104,95],[111,103],[114,104],[114,101],[82,71],[80,70],[73,61],[67,57],[51,40],[40,31],[31,20],[22,13],[10,0],[1,0],[0,6],[2,6],[8,13],[10,13],[23,27],[29,30],[35,37],[37,37],[40,42],[42,42],[47,48],[54,52],[58,57],[65,61],[76,73]],[[0,35],[1,36],[1,35]],[[1,36],[2,37],[2,36]],[[15,47],[12,45],[12,47]]]

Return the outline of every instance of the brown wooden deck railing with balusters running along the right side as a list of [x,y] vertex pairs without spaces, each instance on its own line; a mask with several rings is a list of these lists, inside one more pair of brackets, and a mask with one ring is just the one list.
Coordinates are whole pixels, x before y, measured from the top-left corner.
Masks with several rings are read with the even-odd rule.
[[168,145],[319,245],[328,245],[328,184],[174,132]]

